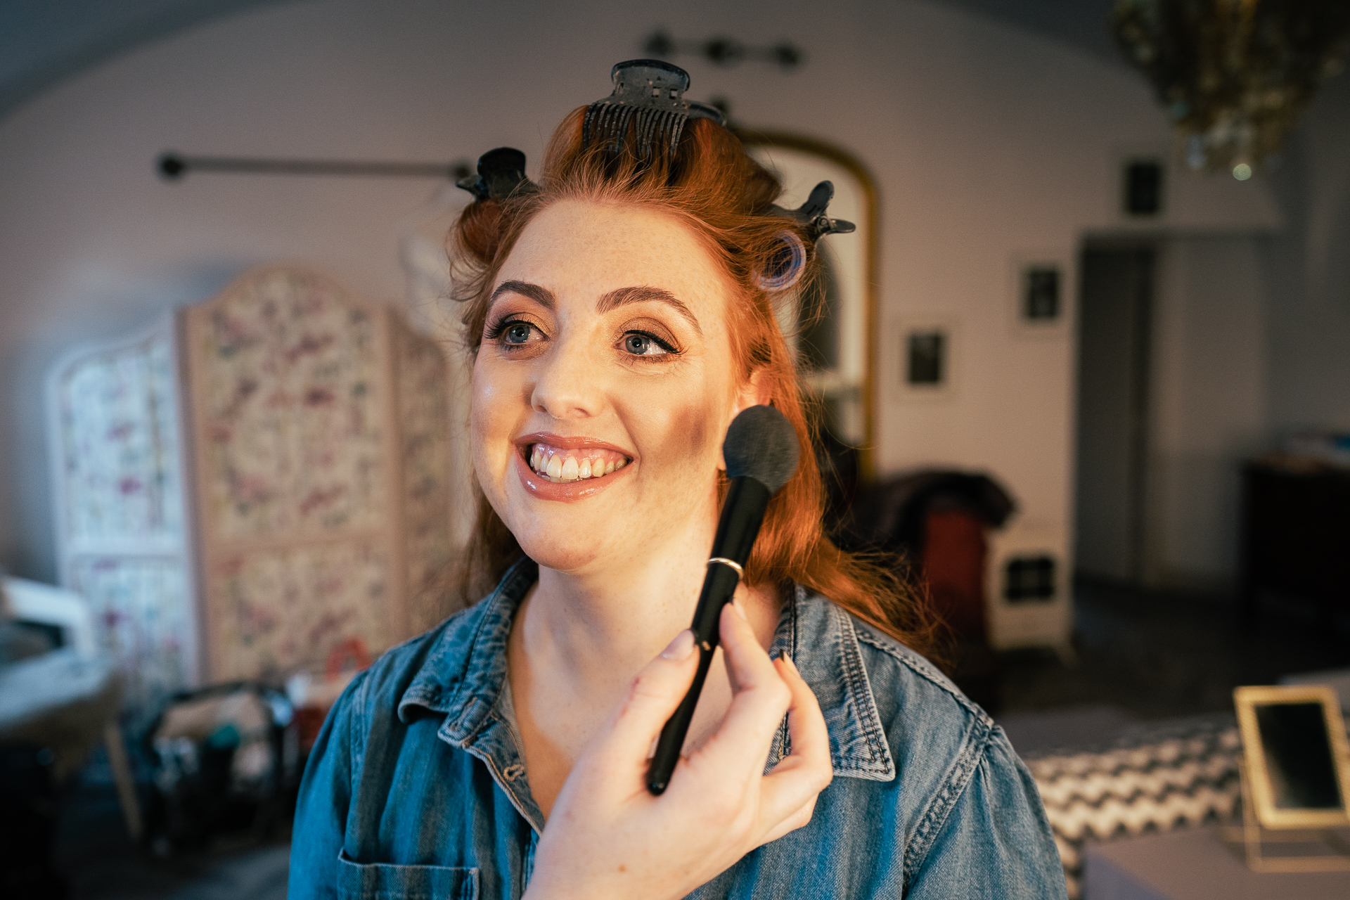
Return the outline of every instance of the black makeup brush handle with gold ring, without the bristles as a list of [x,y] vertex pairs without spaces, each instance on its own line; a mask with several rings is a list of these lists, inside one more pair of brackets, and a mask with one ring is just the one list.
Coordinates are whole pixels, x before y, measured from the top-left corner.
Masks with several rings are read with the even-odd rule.
[[[755,537],[764,521],[770,497],[772,493],[749,475],[733,478],[726,491],[726,502],[722,503],[722,515],[717,524],[717,537],[713,540],[713,556],[707,564],[707,575],[703,576],[703,590],[698,595],[698,607],[694,610],[694,622],[690,626],[698,646],[698,672],[688,694],[666,722],[656,742],[656,754],[652,756],[651,766],[647,769],[647,789],[655,795],[666,791],[671,773],[679,762],[688,723],[694,719],[694,707],[698,706],[707,669],[713,664],[713,650],[721,638],[718,622],[722,607],[736,594],[736,586],[741,580],[738,567],[745,565],[751,548],[755,546]],[[730,560],[736,565],[722,560]]]

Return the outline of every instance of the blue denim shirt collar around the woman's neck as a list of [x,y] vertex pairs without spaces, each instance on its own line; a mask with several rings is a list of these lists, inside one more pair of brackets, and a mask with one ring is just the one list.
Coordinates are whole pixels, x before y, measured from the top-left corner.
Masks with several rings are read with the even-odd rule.
[[[512,619],[537,579],[539,567],[521,559],[475,609],[451,619],[398,700],[398,718],[408,723],[420,710],[444,714],[437,737],[482,760],[520,814],[543,830],[543,815],[524,784],[525,761],[510,691],[504,690]],[[815,692],[830,735],[834,775],[890,781],[895,761],[853,629],[844,610],[796,584],[783,604],[770,656],[786,652]],[[788,753],[784,719],[765,772]]]

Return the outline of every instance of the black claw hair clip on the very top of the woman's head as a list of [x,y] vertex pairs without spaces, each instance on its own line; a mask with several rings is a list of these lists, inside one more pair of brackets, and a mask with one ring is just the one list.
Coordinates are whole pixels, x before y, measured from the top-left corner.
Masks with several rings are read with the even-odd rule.
[[624,147],[628,125],[633,123],[637,157],[647,159],[664,144],[671,154],[690,119],[711,119],[726,125],[717,107],[684,100],[688,73],[660,59],[629,59],[616,63],[609,73],[614,90],[586,107],[582,120],[582,146],[599,143],[610,157]]

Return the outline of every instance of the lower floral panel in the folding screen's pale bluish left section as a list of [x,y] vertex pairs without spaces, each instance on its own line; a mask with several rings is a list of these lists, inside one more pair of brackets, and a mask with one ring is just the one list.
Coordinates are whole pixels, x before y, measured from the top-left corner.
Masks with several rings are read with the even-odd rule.
[[190,600],[188,578],[171,557],[81,556],[69,586],[90,606],[104,649],[123,675],[123,704],[154,715],[188,687]]

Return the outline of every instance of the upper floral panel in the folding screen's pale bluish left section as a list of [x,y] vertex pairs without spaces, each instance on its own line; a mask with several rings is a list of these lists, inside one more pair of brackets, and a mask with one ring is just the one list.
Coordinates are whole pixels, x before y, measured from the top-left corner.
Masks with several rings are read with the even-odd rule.
[[69,364],[55,399],[65,540],[180,545],[182,482],[167,335]]

